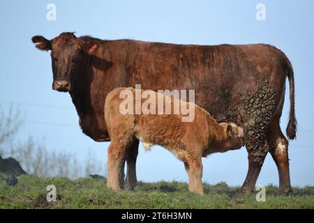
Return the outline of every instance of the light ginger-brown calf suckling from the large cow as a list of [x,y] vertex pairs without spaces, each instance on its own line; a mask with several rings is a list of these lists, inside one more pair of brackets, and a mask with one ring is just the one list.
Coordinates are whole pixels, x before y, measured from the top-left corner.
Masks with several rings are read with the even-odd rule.
[[[124,91],[130,93],[126,99],[121,97]],[[142,95],[142,92],[140,89],[117,88],[111,91],[105,100],[105,122],[111,141],[108,147],[107,187],[112,190],[120,190],[123,187],[124,175],[119,175],[120,169],[124,167],[128,147],[138,139],[142,141],[146,150],[152,145],[160,145],[174,153],[184,162],[190,192],[204,194],[202,157],[244,146],[242,128],[235,123],[217,123],[208,112],[193,102],[187,103],[169,98],[155,91],[150,91],[149,107],[158,104],[161,111],[165,111],[165,107],[169,105],[172,113],[158,114],[155,106],[150,108],[147,114],[143,112],[136,114],[135,95]],[[123,114],[120,106],[125,100],[128,101],[129,112]],[[138,101],[145,105],[145,98],[140,98]],[[184,114],[180,112],[173,114],[176,106],[191,108],[193,118],[190,121],[182,121]]]

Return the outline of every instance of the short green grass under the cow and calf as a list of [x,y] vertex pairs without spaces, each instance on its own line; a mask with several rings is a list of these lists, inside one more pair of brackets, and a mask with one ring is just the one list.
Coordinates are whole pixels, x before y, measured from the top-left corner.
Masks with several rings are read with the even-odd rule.
[[[267,186],[266,201],[255,194],[234,199],[239,187],[226,183],[204,184],[205,195],[188,192],[179,182],[139,182],[134,192],[107,190],[106,180],[93,178],[38,178],[20,176],[14,187],[0,182],[0,208],[314,208],[314,187],[294,187],[290,196],[277,196],[277,187]],[[57,187],[57,201],[47,202],[46,187]]]

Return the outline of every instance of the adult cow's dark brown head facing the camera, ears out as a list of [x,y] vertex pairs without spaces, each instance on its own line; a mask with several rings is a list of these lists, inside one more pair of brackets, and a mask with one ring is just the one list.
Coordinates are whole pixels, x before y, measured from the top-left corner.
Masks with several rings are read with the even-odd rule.
[[[94,54],[98,44],[81,40],[74,33],[61,33],[52,40],[43,36],[33,36],[33,43],[40,50],[51,50],[53,82],[52,89],[62,92],[73,89],[73,79],[77,72],[77,62],[84,54]],[[72,85],[72,86],[71,86]]]

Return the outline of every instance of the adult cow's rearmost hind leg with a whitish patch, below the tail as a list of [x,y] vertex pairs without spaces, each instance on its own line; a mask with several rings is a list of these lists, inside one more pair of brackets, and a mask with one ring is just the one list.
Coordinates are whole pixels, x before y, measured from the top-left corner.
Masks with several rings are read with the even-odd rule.
[[279,118],[275,117],[269,125],[267,132],[269,141],[269,152],[273,157],[279,174],[279,194],[285,195],[290,192],[290,173],[289,173],[289,157],[288,157],[288,141],[285,139],[279,125]]

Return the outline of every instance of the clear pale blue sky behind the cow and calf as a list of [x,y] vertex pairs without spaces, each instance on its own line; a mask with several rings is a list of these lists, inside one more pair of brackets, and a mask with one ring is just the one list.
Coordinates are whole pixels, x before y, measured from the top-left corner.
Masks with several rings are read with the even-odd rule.
[[[57,20],[46,19],[46,6],[57,6]],[[266,6],[266,20],[257,21],[257,3]],[[47,148],[75,153],[81,160],[90,149],[105,169],[108,143],[85,136],[68,93],[52,91],[50,54],[40,52],[31,36],[54,38],[63,31],[77,36],[217,45],[269,43],[287,54],[294,67],[297,141],[290,141],[292,185],[314,185],[314,1],[0,1],[0,106],[20,105],[26,121],[19,134],[43,141]],[[287,88],[288,89],[288,88]],[[286,92],[288,93],[288,91]],[[287,96],[287,94],[286,94]],[[282,129],[287,125],[286,97]],[[247,171],[245,148],[204,159],[203,180],[241,185]],[[103,170],[104,172],[105,170]],[[103,174],[103,173],[98,173]],[[140,146],[139,180],[187,180],[184,165],[158,146],[145,153]],[[278,185],[276,166],[268,155],[257,184]]]

